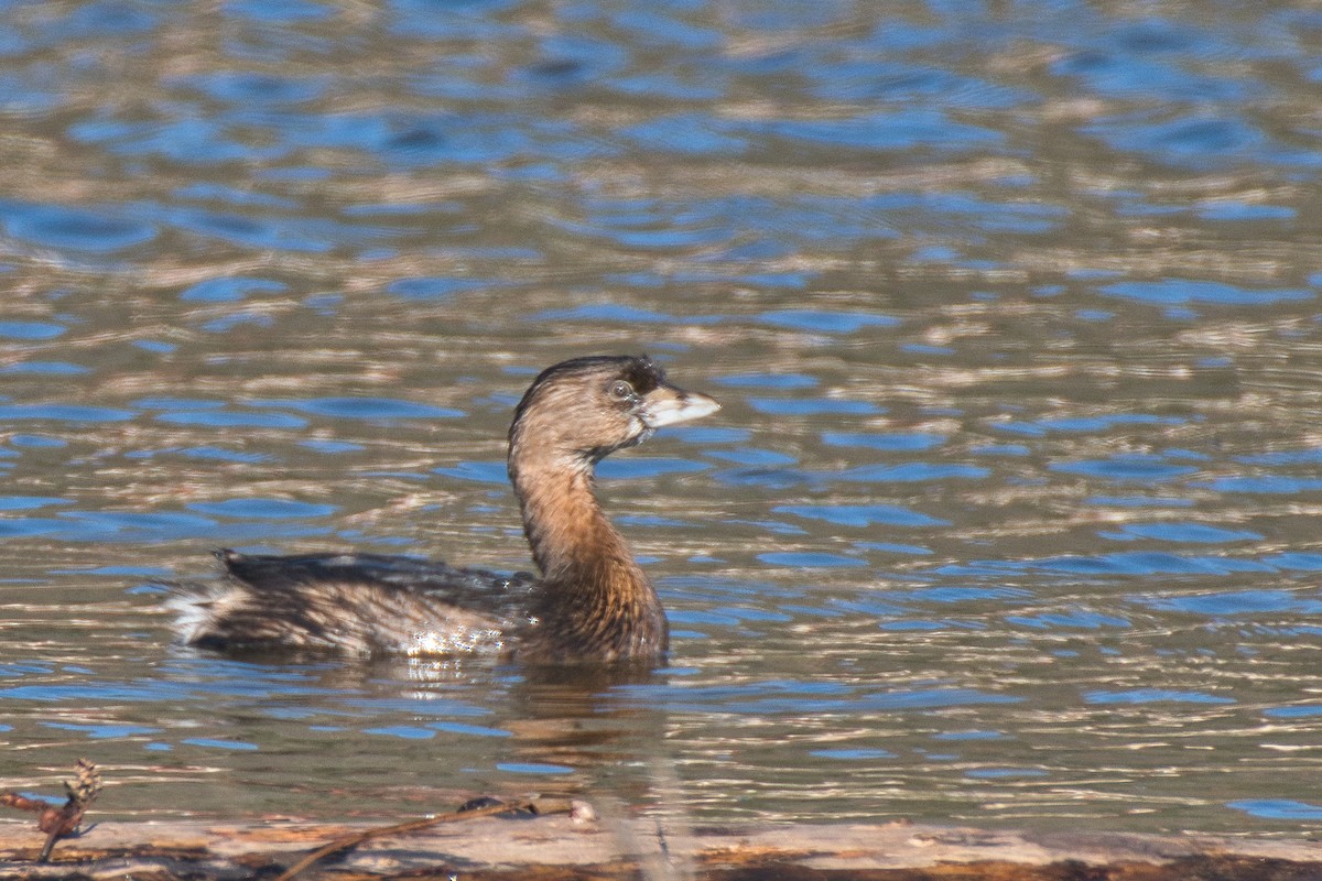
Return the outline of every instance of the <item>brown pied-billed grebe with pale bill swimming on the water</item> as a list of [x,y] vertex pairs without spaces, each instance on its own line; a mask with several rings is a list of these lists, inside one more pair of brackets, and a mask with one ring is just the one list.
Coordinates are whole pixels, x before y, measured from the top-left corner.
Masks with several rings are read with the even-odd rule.
[[226,577],[172,604],[184,641],[231,651],[660,660],[665,612],[596,501],[594,468],[662,425],[719,408],[668,383],[645,357],[549,367],[514,409],[508,460],[541,579],[402,556],[221,551]]

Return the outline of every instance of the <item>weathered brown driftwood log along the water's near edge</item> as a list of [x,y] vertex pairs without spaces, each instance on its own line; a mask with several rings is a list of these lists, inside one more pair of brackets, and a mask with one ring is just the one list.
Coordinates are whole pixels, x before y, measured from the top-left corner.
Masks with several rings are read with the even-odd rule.
[[[0,822],[0,878],[274,881],[1319,881],[1322,844],[1212,836],[1029,833],[887,823],[662,829],[591,811],[381,829],[266,822],[98,823],[37,863],[44,836]],[[424,828],[418,828],[424,827]],[[366,832],[366,835],[364,835]],[[354,841],[352,839],[361,839]],[[345,844],[348,843],[348,844]],[[334,851],[333,853],[330,851]]]

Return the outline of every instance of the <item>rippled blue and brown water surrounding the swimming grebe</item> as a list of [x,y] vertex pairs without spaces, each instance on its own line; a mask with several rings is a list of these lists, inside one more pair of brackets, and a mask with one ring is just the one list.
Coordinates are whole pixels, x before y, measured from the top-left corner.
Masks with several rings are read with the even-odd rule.
[[[676,820],[1322,819],[1307,3],[0,9],[0,789]],[[209,549],[527,565],[502,436],[646,350],[645,682],[171,645]]]

